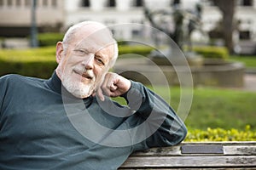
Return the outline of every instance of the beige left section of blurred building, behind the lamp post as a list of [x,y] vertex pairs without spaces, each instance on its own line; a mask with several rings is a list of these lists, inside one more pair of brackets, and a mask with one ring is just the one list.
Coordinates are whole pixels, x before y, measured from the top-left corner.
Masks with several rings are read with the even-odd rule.
[[[32,23],[33,0],[0,0],[0,37],[27,37]],[[62,0],[36,0],[39,31],[52,31],[63,25]]]

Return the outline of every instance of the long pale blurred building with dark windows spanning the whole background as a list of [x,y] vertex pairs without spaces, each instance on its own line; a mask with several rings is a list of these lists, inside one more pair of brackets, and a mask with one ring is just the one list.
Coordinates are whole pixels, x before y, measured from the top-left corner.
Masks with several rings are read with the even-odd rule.
[[[96,20],[107,26],[124,23],[148,24],[143,8],[163,8],[172,6],[194,8],[201,3],[202,30],[214,35],[222,14],[212,0],[37,0],[37,24],[39,31],[59,31],[61,28],[82,20]],[[31,26],[32,0],[0,0],[0,37],[25,37]],[[256,0],[237,0],[234,42],[245,42],[246,46],[256,42]],[[113,27],[118,37],[139,37],[144,30],[140,25]],[[194,36],[195,40],[201,35]],[[222,43],[221,41],[216,43]],[[236,49],[241,51],[241,46]],[[255,47],[254,47],[255,48]]]

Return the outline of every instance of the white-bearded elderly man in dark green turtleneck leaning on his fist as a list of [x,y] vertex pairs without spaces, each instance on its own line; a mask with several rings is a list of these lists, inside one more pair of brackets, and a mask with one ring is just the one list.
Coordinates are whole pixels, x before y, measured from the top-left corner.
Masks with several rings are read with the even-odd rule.
[[108,28],[86,21],[57,42],[49,80],[1,77],[0,169],[117,169],[136,150],[180,143],[186,127],[163,99],[108,72],[117,56]]

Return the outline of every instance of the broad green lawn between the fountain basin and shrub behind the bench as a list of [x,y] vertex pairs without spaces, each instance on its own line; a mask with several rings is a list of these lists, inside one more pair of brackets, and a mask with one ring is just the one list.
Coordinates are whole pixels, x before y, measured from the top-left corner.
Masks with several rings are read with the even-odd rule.
[[[154,88],[164,99],[169,99],[175,111],[179,105],[179,88]],[[256,130],[256,93],[223,88],[195,88],[192,105],[185,124],[191,129],[236,128],[244,130],[250,125]],[[124,100],[117,99],[124,103]]]

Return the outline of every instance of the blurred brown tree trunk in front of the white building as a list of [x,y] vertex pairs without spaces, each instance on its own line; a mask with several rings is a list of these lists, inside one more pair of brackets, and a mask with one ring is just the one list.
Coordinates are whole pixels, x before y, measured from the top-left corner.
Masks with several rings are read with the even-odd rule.
[[212,0],[223,14],[223,27],[221,29],[224,37],[225,46],[229,52],[233,52],[233,31],[234,31],[234,13],[236,0]]

